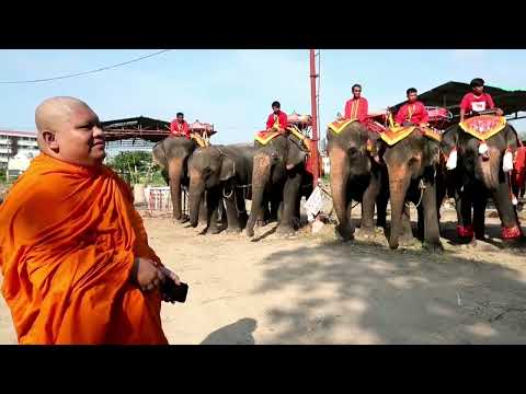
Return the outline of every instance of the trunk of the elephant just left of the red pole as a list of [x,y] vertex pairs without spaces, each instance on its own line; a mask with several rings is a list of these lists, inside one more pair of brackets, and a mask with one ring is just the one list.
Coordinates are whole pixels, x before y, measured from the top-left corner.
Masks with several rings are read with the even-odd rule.
[[271,177],[271,159],[260,154],[254,157],[254,169],[252,171],[252,206],[250,208],[249,221],[247,222],[247,235],[254,235],[254,225],[263,209],[265,187]]

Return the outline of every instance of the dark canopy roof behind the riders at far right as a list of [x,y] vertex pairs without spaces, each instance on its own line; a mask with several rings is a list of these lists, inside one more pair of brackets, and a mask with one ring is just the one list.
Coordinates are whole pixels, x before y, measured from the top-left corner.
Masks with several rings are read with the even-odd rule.
[[[460,115],[460,102],[466,93],[471,92],[469,83],[449,81],[427,92],[419,94],[419,100],[428,106],[439,106],[449,109],[454,117]],[[495,106],[504,112],[504,115],[515,114],[513,119],[522,119],[526,116],[518,116],[519,112],[526,112],[526,91],[506,91],[504,89],[484,85],[484,92],[489,93]],[[405,104],[405,101],[395,105],[398,111]]]

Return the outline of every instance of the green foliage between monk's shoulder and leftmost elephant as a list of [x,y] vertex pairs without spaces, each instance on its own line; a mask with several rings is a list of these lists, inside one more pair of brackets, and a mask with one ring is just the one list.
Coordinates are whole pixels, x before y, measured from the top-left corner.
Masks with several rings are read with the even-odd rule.
[[151,159],[151,152],[121,152],[107,165],[130,185],[165,186],[161,169]]

